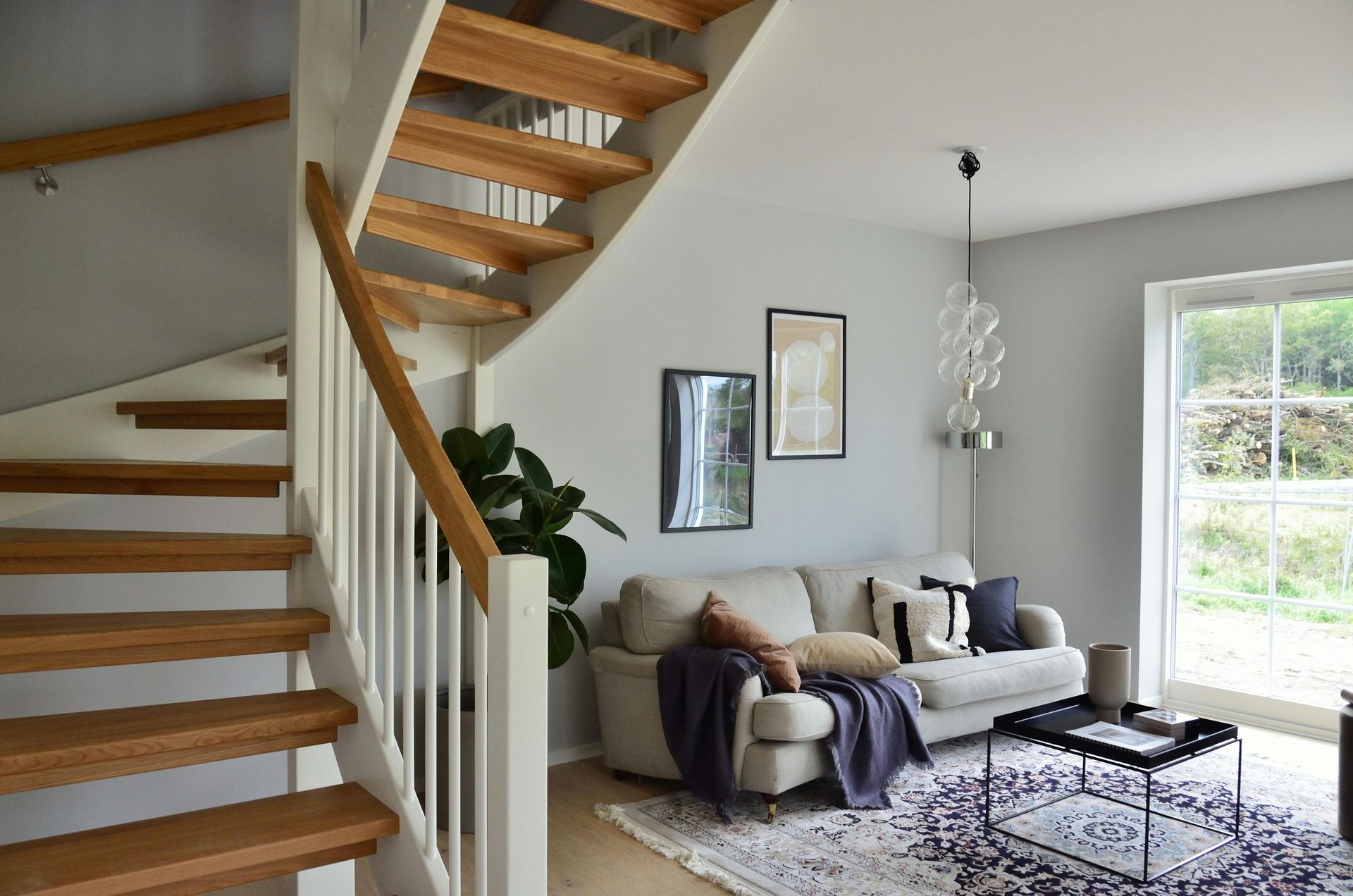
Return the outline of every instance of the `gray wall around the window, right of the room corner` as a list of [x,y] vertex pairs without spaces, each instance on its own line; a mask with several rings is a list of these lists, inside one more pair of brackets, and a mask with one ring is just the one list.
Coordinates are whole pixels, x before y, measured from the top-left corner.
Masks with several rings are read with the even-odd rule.
[[[1353,181],[982,242],[1001,383],[978,393],[980,574],[1062,610],[1070,643],[1139,642],[1143,286],[1353,257]],[[1145,651],[1145,654],[1143,654]],[[1153,696],[1153,694],[1143,694]]]

